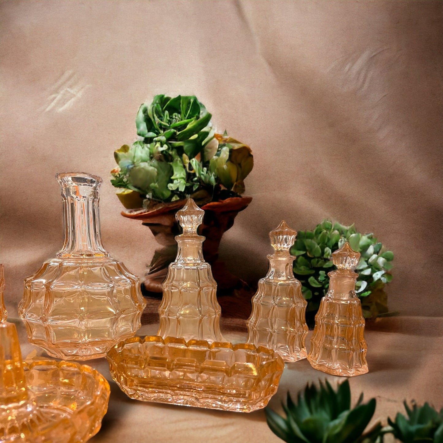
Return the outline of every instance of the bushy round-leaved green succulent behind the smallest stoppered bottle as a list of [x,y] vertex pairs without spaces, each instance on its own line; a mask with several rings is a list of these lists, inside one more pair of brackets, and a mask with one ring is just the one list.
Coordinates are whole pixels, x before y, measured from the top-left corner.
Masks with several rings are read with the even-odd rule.
[[361,254],[356,271],[356,293],[361,299],[365,318],[375,319],[389,313],[385,284],[392,280],[390,273],[394,254],[386,251],[372,233],[358,233],[354,225],[344,226],[323,220],[313,231],[299,231],[291,248],[294,274],[302,283],[303,296],[307,300],[306,319],[314,325],[314,317],[323,295],[329,288],[328,272],[334,269],[331,255],[349,242],[354,251]]

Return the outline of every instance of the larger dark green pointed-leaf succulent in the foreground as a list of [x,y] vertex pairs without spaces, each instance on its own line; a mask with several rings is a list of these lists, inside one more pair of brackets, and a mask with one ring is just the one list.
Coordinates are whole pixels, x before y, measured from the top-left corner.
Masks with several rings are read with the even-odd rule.
[[363,394],[351,408],[349,381],[335,391],[326,380],[320,387],[307,384],[297,402],[288,392],[282,404],[286,417],[265,409],[272,432],[288,443],[375,443],[381,441],[381,424],[364,433],[375,411],[376,400],[362,404]]

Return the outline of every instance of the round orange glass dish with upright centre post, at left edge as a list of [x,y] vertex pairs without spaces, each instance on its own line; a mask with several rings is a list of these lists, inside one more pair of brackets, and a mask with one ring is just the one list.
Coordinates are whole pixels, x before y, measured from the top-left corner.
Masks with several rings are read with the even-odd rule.
[[6,322],[3,297],[0,304],[0,441],[87,441],[100,429],[108,408],[108,382],[77,363],[23,362],[16,326]]

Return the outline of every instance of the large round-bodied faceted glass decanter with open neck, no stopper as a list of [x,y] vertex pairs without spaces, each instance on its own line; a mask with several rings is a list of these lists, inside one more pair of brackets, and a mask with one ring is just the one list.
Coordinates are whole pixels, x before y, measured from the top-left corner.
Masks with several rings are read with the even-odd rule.
[[62,187],[65,241],[57,257],[24,282],[19,314],[29,341],[71,360],[104,357],[140,327],[146,304],[140,280],[101,244],[101,178],[57,174]]

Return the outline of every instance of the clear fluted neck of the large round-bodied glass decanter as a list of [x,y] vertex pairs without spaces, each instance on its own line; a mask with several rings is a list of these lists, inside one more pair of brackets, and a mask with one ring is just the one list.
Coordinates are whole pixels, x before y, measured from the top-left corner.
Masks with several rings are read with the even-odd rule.
[[82,173],[57,174],[62,187],[65,241],[58,257],[109,256],[101,244],[98,189],[101,178]]

